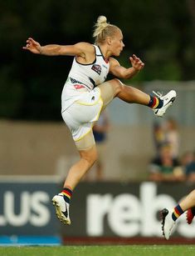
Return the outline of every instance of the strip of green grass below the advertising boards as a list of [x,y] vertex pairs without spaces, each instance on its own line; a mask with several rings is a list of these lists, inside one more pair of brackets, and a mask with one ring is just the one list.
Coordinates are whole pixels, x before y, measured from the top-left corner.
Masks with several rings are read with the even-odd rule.
[[110,245],[0,247],[1,256],[183,256],[195,255],[195,245]]

